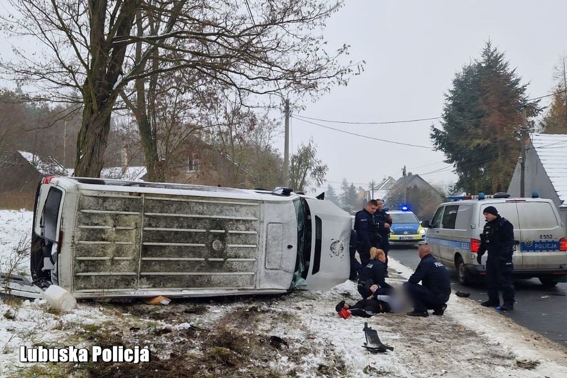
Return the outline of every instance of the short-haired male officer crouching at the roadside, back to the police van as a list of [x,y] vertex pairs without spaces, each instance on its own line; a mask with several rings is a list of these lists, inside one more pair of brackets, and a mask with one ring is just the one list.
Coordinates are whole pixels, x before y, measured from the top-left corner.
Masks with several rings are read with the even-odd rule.
[[[417,249],[421,261],[416,271],[404,282],[404,290],[413,303],[413,311],[409,316],[429,316],[428,309],[433,315],[443,315],[447,301],[451,295],[451,280],[447,268],[431,255],[428,244],[421,244]],[[418,283],[421,281],[421,285]]]

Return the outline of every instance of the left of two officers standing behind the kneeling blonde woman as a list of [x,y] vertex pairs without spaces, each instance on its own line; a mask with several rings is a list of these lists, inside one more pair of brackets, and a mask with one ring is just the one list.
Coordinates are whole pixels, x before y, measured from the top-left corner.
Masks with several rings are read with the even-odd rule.
[[380,248],[380,235],[374,213],[378,209],[378,202],[371,199],[361,211],[354,215],[354,231],[357,234],[357,247],[362,266],[370,260],[370,248]]

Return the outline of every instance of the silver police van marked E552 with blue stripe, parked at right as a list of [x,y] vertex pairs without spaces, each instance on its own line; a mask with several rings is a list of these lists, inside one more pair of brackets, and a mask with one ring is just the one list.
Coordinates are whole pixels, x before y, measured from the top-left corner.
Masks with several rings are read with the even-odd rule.
[[494,196],[449,197],[441,203],[427,228],[426,242],[443,265],[458,271],[459,282],[471,283],[475,276],[486,274],[486,253],[476,261],[480,234],[485,218],[483,210],[494,206],[514,226],[514,277],[539,278],[545,286],[567,282],[567,238],[555,204],[551,199],[510,198],[510,194]]

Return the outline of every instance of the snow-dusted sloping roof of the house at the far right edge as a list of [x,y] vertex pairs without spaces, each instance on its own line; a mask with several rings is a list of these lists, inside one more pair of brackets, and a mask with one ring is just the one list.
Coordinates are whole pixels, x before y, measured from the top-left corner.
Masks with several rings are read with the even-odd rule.
[[567,135],[531,134],[531,144],[561,201],[567,200]]

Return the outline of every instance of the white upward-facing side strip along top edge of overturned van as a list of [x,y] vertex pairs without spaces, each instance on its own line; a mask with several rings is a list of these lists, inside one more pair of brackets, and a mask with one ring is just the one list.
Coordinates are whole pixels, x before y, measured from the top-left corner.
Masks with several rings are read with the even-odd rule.
[[291,201],[299,197],[295,193],[290,193],[289,196],[286,196],[264,189],[254,190],[168,182],[124,181],[94,177],[53,177],[50,181],[65,189],[78,188],[79,190],[171,194],[172,196],[223,197],[261,201]]

